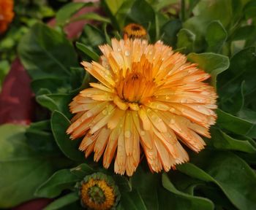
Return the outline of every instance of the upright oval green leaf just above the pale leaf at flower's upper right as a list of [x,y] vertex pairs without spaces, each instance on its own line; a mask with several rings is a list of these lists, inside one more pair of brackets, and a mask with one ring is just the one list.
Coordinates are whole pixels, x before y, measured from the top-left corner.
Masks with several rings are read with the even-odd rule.
[[218,20],[212,21],[206,29],[207,52],[220,52],[227,39],[227,31]]

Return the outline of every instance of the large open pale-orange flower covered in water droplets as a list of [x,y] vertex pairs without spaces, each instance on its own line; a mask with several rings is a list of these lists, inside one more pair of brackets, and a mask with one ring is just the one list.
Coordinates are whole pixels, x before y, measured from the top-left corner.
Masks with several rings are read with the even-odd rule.
[[[195,152],[206,145],[216,121],[217,94],[203,81],[210,77],[185,55],[157,42],[112,39],[100,46],[100,62],[82,62],[99,83],[82,90],[70,104],[75,113],[67,130],[84,136],[79,149],[94,160],[114,157],[117,174],[132,176],[144,150],[151,171],[169,171],[189,160],[183,144]],[[141,147],[140,147],[141,146]],[[117,152],[116,152],[117,150]]]

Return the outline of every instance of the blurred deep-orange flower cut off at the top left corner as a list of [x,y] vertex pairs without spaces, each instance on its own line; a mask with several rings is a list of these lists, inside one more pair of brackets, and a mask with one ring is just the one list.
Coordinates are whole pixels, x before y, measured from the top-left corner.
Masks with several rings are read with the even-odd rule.
[[13,1],[0,0],[0,34],[7,30],[7,26],[12,22],[14,17]]

